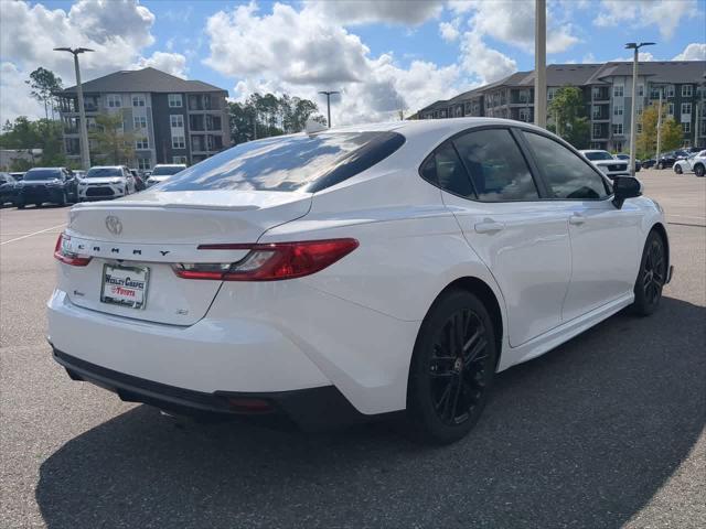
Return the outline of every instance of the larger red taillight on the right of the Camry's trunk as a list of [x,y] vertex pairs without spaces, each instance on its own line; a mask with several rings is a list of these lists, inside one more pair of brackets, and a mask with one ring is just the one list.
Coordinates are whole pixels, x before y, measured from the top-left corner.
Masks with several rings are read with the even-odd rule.
[[183,279],[218,281],[279,281],[310,276],[345,257],[355,239],[272,242],[269,245],[201,245],[200,250],[249,250],[237,262],[176,263],[174,273]]

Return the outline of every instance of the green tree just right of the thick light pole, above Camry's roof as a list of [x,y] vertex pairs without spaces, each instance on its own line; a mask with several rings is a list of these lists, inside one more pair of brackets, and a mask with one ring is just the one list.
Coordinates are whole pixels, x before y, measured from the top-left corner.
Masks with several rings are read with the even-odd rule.
[[563,86],[556,90],[548,107],[554,120],[554,131],[577,149],[587,149],[590,142],[590,125],[586,116],[584,93],[576,86]]

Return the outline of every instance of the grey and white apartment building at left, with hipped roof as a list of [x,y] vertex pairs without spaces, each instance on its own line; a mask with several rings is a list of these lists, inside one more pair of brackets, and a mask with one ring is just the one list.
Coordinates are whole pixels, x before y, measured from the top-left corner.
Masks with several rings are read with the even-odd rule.
[[[143,68],[88,80],[83,83],[83,91],[89,132],[96,127],[96,116],[121,115],[122,130],[135,138],[135,168],[192,164],[231,145],[227,91],[223,88]],[[66,156],[79,161],[76,87],[57,96]]]

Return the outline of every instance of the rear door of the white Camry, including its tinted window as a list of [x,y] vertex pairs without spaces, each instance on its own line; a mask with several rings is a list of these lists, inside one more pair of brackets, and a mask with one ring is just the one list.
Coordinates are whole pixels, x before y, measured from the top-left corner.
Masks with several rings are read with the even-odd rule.
[[422,176],[502,290],[510,344],[560,324],[570,278],[568,214],[541,192],[509,128],[471,129],[442,143]]

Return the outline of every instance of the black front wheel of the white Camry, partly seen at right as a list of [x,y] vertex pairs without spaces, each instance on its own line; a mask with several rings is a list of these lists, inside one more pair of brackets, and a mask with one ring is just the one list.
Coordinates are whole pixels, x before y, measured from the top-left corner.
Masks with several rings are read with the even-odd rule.
[[635,281],[635,301],[633,312],[640,316],[649,316],[662,299],[662,289],[666,283],[667,257],[666,244],[655,230],[650,231],[642,250],[640,272]]

